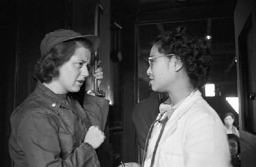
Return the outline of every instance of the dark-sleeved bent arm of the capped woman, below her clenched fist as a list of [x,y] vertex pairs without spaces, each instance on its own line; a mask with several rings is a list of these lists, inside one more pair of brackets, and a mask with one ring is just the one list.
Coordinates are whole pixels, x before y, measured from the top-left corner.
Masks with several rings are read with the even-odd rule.
[[60,158],[57,124],[47,115],[32,111],[18,127],[17,138],[28,160],[28,166],[84,166],[96,155],[92,146],[79,145],[65,160]]

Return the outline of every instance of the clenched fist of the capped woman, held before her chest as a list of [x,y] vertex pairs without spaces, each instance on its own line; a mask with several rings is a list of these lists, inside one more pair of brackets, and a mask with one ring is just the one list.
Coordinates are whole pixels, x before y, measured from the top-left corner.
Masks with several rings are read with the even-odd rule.
[[98,126],[91,126],[84,137],[84,141],[89,143],[94,149],[97,149],[105,140],[104,133]]

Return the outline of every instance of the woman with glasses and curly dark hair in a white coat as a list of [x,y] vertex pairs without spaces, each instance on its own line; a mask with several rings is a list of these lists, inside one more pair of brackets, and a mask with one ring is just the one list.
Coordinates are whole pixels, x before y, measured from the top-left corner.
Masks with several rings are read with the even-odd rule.
[[[147,74],[153,91],[167,92],[148,131],[143,167],[229,166],[229,147],[218,114],[198,90],[210,72],[205,41],[178,27],[157,37]],[[125,163],[125,166],[140,166]]]

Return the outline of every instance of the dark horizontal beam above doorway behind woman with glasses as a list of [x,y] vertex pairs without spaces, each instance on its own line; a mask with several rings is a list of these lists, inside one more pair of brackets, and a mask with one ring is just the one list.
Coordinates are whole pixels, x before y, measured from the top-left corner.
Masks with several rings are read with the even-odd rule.
[[194,20],[216,17],[233,17],[234,1],[223,0],[210,4],[197,4],[195,6],[157,5],[154,3],[141,4],[138,12],[140,24],[158,23],[166,21]]

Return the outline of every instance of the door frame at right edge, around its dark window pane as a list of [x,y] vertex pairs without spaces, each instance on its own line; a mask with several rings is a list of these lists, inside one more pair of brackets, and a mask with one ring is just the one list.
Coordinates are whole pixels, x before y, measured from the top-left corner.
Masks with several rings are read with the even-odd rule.
[[[240,35],[251,19],[251,27],[253,34],[253,53],[256,53],[256,3],[253,0],[238,0],[236,9],[234,10],[234,29],[236,39],[236,57],[237,57],[237,78],[238,78],[238,97],[239,97],[239,131],[240,131],[240,147],[241,147],[241,162],[242,166],[253,166],[256,163],[256,134],[249,132],[245,128],[246,108],[248,97],[246,97],[245,88],[243,85],[243,69],[241,61],[243,57],[239,48]],[[248,156],[249,155],[249,156]]]

